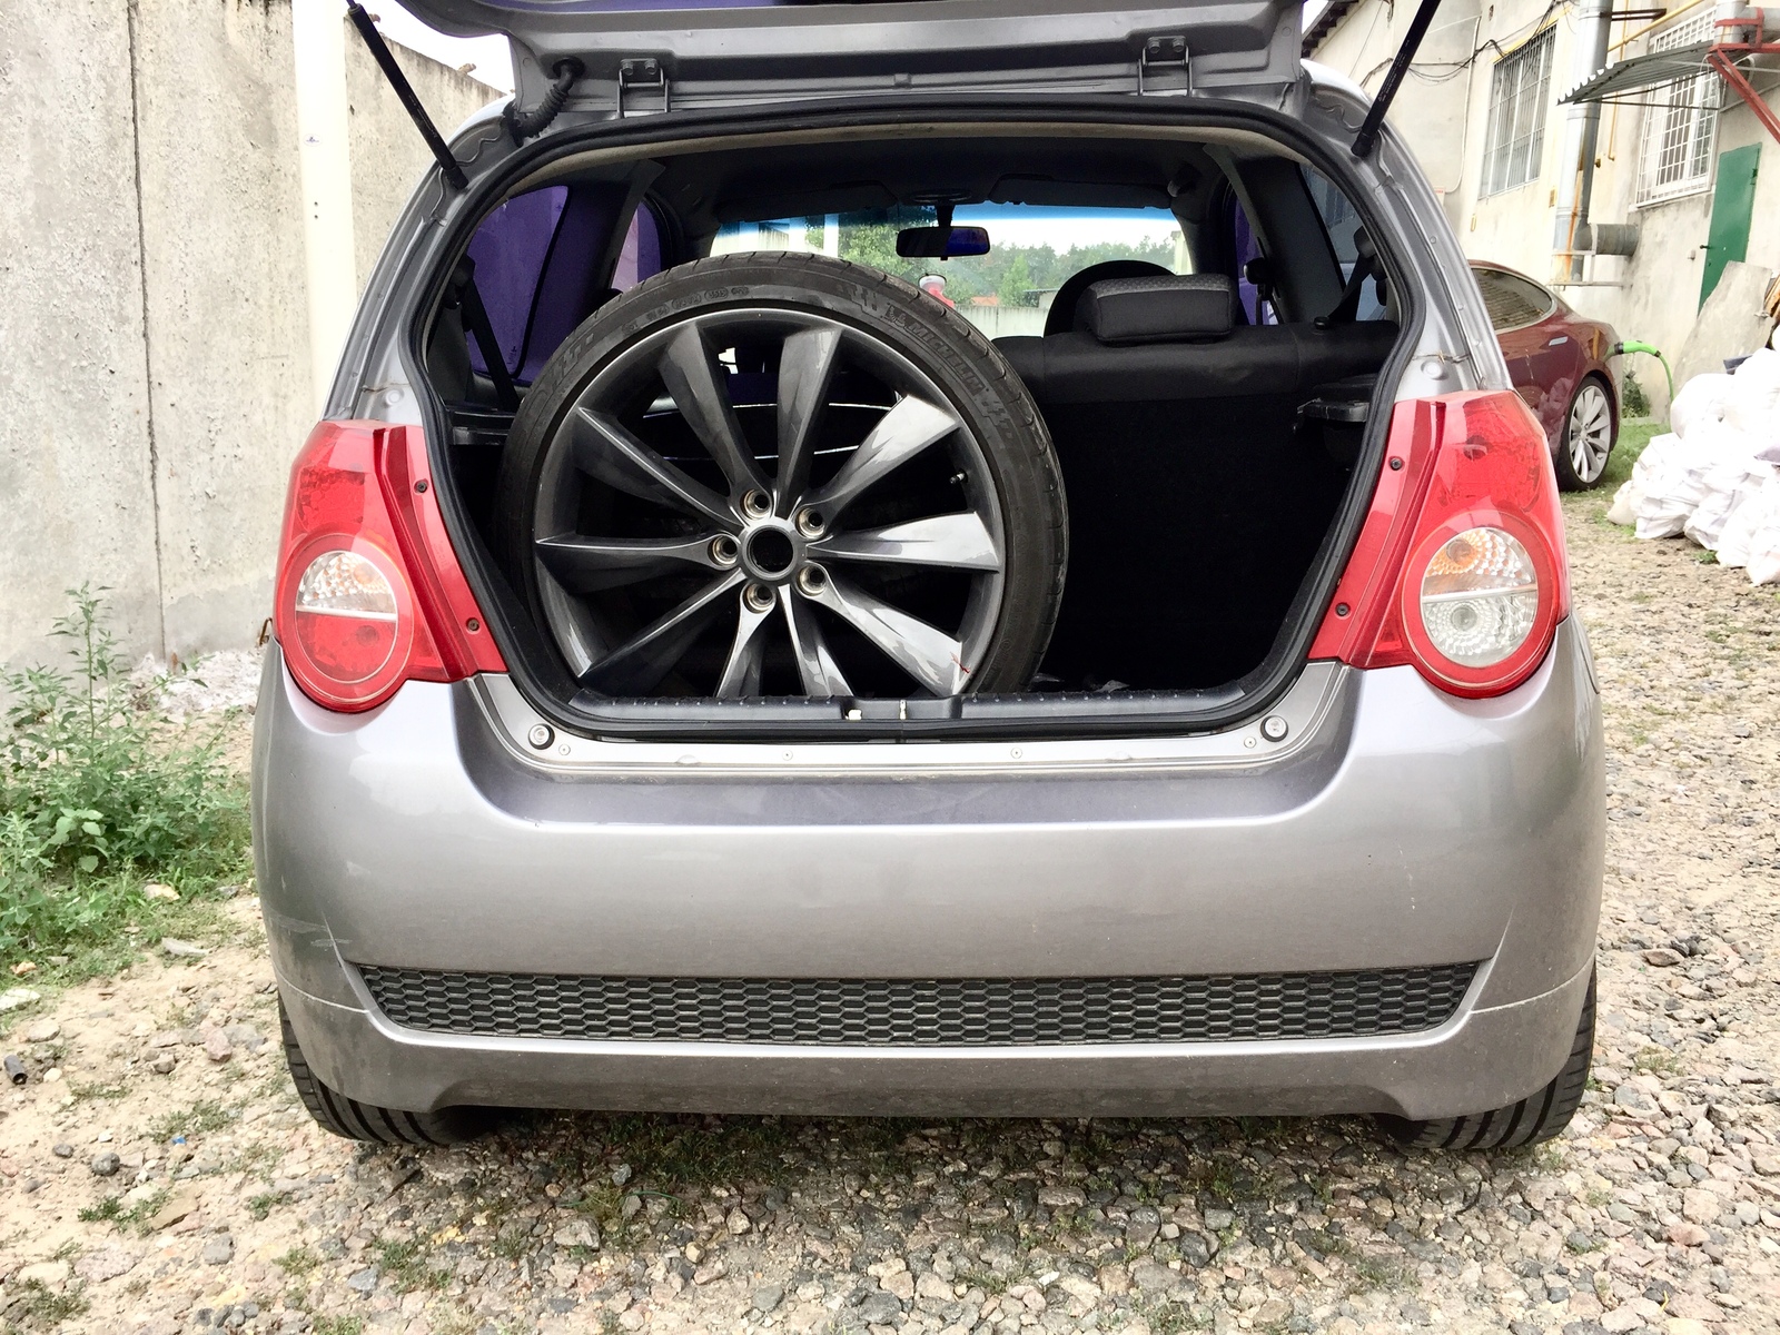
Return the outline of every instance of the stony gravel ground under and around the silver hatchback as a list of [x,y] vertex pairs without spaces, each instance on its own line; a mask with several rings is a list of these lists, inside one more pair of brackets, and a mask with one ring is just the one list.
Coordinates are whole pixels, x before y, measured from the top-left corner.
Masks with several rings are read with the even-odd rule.
[[[1572,502],[1607,696],[1597,1088],[1559,1141],[1363,1120],[525,1116],[461,1150],[295,1107],[240,938],[16,1011],[21,1330],[1773,1330],[1780,602]],[[263,1041],[274,1040],[274,1041]]]

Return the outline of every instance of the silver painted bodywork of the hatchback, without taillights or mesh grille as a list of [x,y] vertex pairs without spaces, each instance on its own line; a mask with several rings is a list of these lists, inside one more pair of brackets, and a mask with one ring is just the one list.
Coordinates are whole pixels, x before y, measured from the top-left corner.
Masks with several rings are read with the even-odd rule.
[[[522,9],[523,32],[518,18],[491,20]],[[1228,112],[1235,101],[1205,96],[1219,89],[1271,100],[1241,109],[1258,134],[1303,132],[1346,153],[1365,105],[1315,69],[1298,78],[1298,9],[1282,5],[942,0],[675,14],[685,27],[573,4],[427,0],[420,12],[518,34],[522,105],[541,96],[554,55],[593,59],[546,142],[513,144],[497,110],[459,130],[470,190],[429,173],[367,287],[328,413],[424,424],[434,443],[411,344],[427,276],[477,210],[552,153],[728,142],[783,116],[790,96],[831,98],[797,103],[806,134],[844,117],[926,134],[924,116],[958,119],[965,105],[924,98],[947,87],[1200,94],[977,98],[967,117],[1148,117],[1161,132],[1164,114]],[[1191,34],[1218,12],[1255,41],[1193,43],[1191,73],[1143,71],[1146,34]],[[981,20],[968,34],[965,14]],[[644,41],[651,32],[660,41]],[[616,61],[635,53],[660,55],[671,85],[648,132],[618,91]],[[1397,395],[1506,388],[1413,157],[1387,130],[1372,157],[1342,166],[1420,308],[1390,368]],[[1426,1118],[1533,1093],[1570,1052],[1598,913],[1602,730],[1581,625],[1565,621],[1543,666],[1493,700],[1445,696],[1412,668],[1294,671],[1264,701],[1289,724],[1283,744],[1258,735],[1257,708],[1214,732],[1098,740],[618,742],[570,728],[546,758],[527,733],[562,721],[532,710],[518,675],[409,682],[342,716],[301,694],[274,644],[253,817],[279,991],[322,1080],[408,1109]],[[1460,1011],[1424,1032],[968,1050],[418,1032],[381,1015],[354,968],[1089,977],[1454,961],[1479,974]]]

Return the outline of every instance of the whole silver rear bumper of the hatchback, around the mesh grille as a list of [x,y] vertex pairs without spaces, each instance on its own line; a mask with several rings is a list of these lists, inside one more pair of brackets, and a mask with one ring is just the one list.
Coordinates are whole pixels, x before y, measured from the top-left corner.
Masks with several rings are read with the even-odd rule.
[[[552,774],[500,740],[468,685],[409,684],[344,717],[269,659],[267,933],[310,1064],[363,1102],[1428,1118],[1545,1084],[1581,1011],[1604,792],[1572,623],[1509,696],[1340,669],[1273,756],[1136,771],[951,769],[934,746],[933,765],[876,776],[805,773],[803,756],[753,774]],[[1452,961],[1485,965],[1422,1032],[972,1048],[417,1031],[352,967],[1104,977]]]

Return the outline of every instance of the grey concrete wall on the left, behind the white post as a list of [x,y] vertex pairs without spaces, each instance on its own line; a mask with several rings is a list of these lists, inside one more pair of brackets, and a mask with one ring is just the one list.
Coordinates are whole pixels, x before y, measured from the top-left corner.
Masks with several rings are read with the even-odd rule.
[[[495,96],[397,55],[447,132]],[[347,84],[363,287],[431,158],[356,34]],[[249,644],[315,418],[290,0],[7,0],[0,119],[0,664],[80,582],[132,657]]]

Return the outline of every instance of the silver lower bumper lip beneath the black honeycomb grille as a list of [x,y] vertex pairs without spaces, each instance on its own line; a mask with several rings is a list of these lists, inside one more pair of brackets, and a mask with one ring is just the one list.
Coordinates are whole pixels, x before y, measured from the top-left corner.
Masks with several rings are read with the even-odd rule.
[[1032,1048],[580,1043],[422,1034],[281,984],[303,1052],[383,1107],[452,1104],[862,1116],[1445,1116],[1502,1107],[1563,1066],[1588,968],[1410,1040]]

